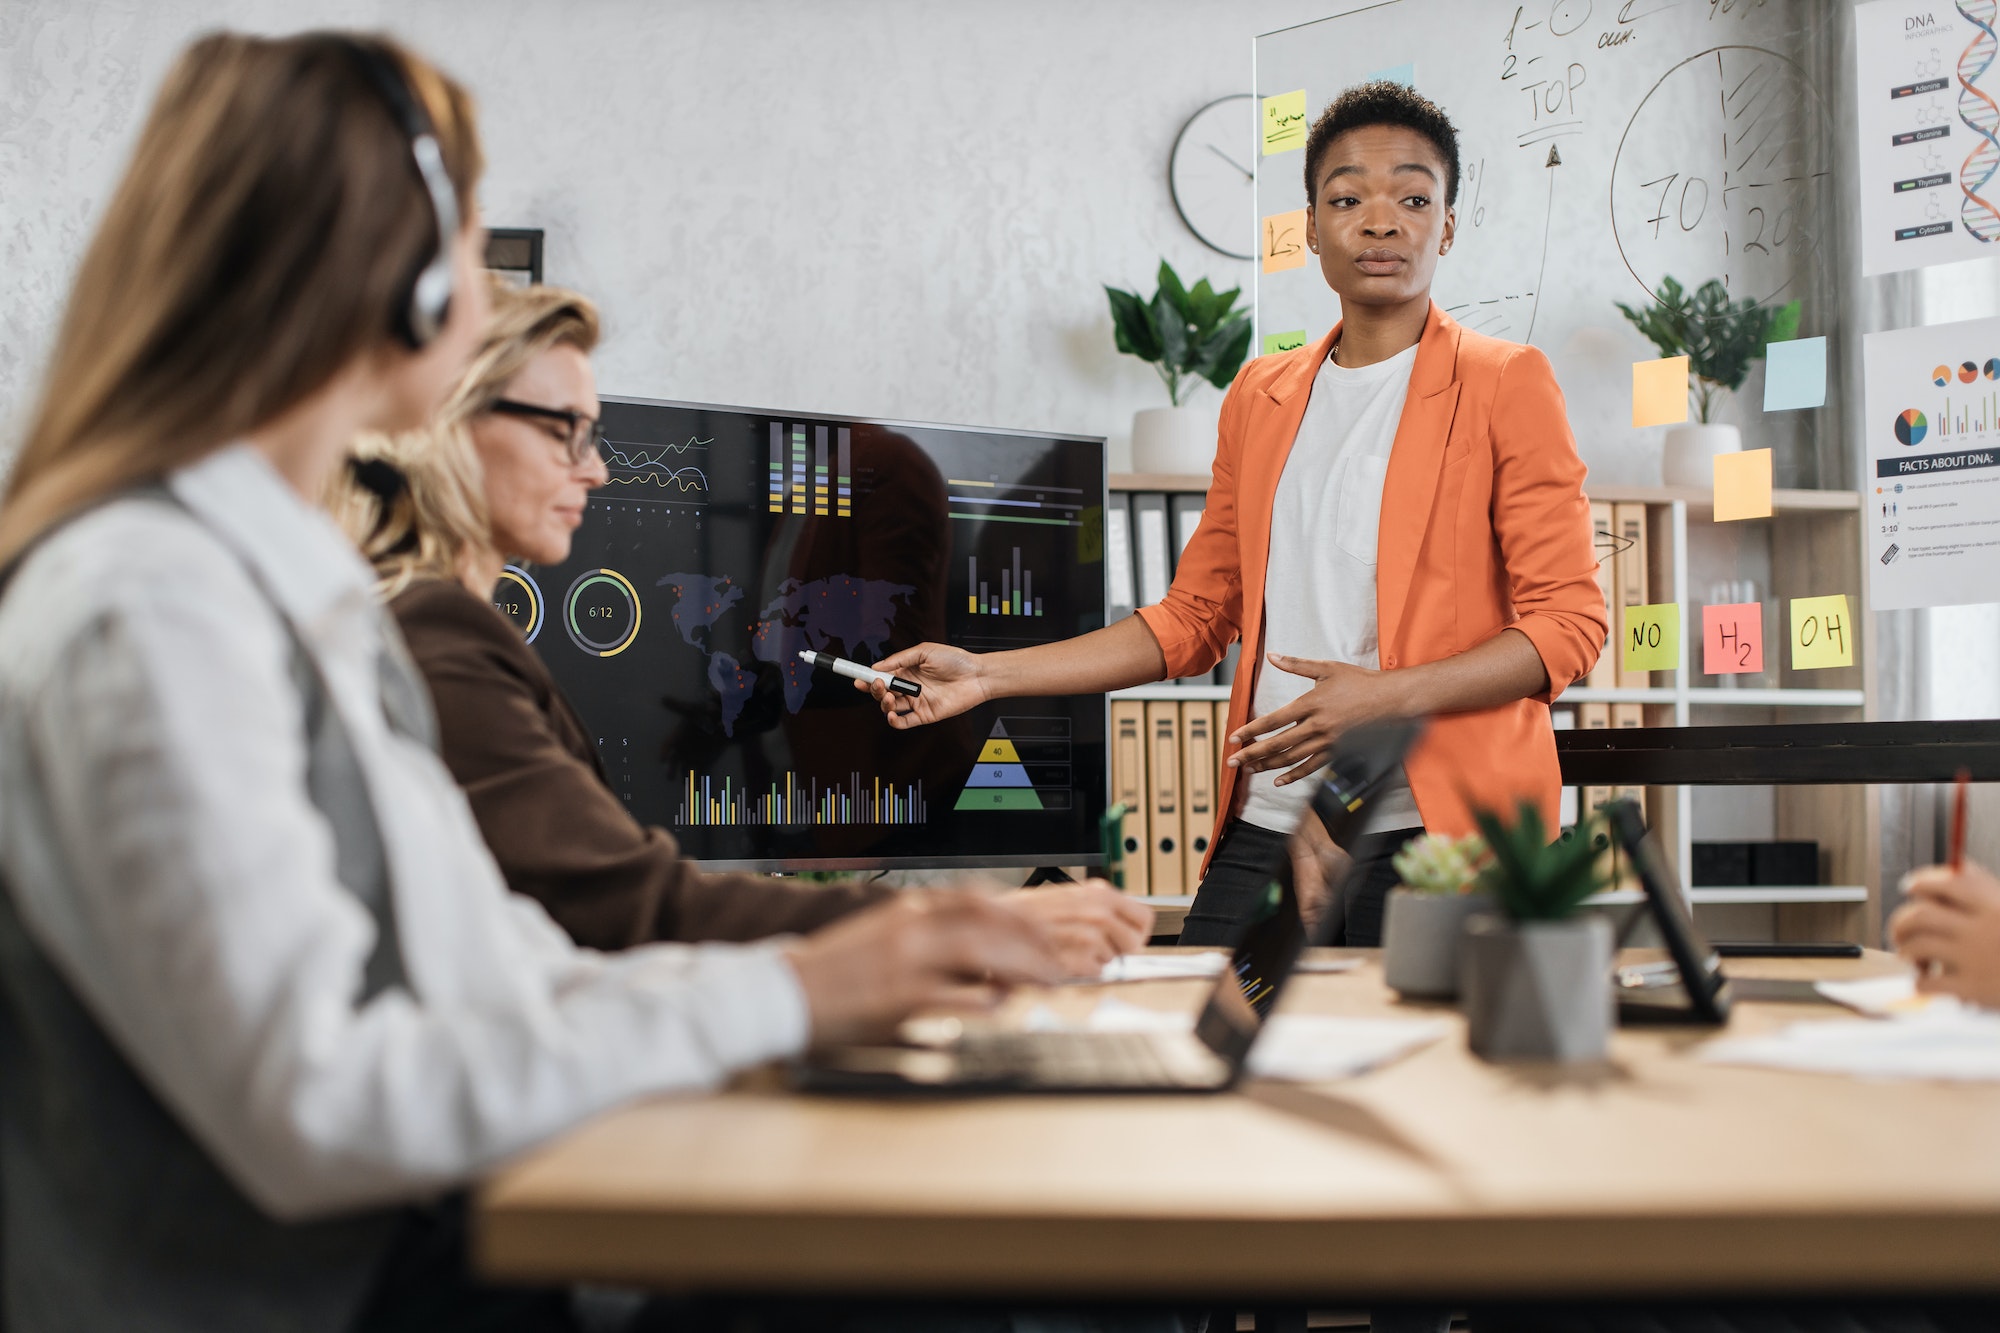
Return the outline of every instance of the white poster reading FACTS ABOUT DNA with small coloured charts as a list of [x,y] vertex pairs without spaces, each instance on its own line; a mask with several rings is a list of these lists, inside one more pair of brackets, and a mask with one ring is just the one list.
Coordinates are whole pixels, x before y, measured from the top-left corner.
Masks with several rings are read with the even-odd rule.
[[1862,358],[1870,604],[2000,600],[2000,320],[1868,334]]

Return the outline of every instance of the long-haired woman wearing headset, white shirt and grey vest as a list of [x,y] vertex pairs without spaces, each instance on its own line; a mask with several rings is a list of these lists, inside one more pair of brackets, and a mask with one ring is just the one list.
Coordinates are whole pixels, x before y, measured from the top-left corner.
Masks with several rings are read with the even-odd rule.
[[966,987],[1044,931],[904,897],[804,943],[576,949],[510,897],[372,572],[314,508],[480,338],[464,90],[210,36],[84,254],[0,498],[0,1325],[568,1327],[452,1197],[620,1101]]

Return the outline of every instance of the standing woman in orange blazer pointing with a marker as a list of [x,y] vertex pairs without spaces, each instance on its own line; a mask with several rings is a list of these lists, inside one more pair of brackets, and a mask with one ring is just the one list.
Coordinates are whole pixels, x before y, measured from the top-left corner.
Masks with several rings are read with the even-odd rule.
[[[1454,228],[1458,142],[1450,120],[1398,84],[1352,88],[1308,136],[1306,184],[1308,246],[1340,294],[1344,320],[1318,342],[1252,360],[1236,376],[1222,404],[1208,508],[1166,598],[1104,630],[1016,652],[976,656],[920,644],[878,662],[920,681],[920,699],[874,687],[890,725],[916,727],[986,699],[1198,675],[1242,640],[1222,817],[1182,943],[1228,941],[1268,875],[1258,867],[1268,865],[1278,835],[1238,819],[1244,777],[1276,769],[1276,787],[1296,783],[1324,763],[1342,731],[1376,717],[1432,717],[1404,765],[1424,829],[1464,835],[1472,807],[1512,817],[1520,801],[1540,807],[1554,829],[1562,779],[1548,705],[1590,671],[1606,636],[1584,464],[1548,358],[1470,332],[1430,300],[1430,278]],[[1384,364],[1396,358],[1398,366]],[[1312,508],[1326,492],[1292,494],[1284,512],[1294,530],[1284,550],[1294,550],[1304,530],[1306,542],[1290,556],[1302,568],[1272,566],[1280,482],[1296,484],[1288,462],[1300,472],[1312,466],[1294,458],[1300,422],[1318,384],[1338,388],[1342,372],[1370,366],[1406,366],[1408,374],[1400,418],[1384,416],[1378,426],[1386,466],[1376,454],[1370,472],[1380,478],[1380,536],[1368,552],[1374,624],[1366,628],[1374,632],[1364,636],[1374,646],[1356,656],[1376,660],[1266,654],[1266,582],[1332,562],[1324,542],[1354,544],[1342,540],[1336,516]],[[1328,398],[1336,400],[1348,402]],[[1394,412],[1394,402],[1384,412]],[[1312,448],[1348,448],[1342,428],[1324,420],[1322,408]],[[1356,418],[1354,430],[1364,428]],[[1300,528],[1300,512],[1314,522]],[[1360,606],[1366,614],[1366,598]],[[1304,693],[1252,717],[1264,671],[1298,677],[1284,693]],[[1324,843],[1316,821],[1304,821],[1304,831]],[[1414,829],[1398,829],[1406,833]],[[1372,865],[1356,877],[1346,943],[1378,943],[1380,901],[1394,883],[1388,859],[1400,845],[1396,837],[1392,847],[1356,849]],[[1310,881],[1322,879],[1314,875],[1324,865],[1318,851],[1292,843],[1308,903]]]

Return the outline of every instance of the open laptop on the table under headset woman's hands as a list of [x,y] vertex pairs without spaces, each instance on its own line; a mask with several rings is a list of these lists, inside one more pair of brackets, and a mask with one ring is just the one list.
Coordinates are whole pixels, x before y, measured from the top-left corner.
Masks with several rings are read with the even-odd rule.
[[[1420,731],[1422,723],[1392,721],[1342,737],[1312,779],[1318,787],[1304,819],[1318,819],[1336,843],[1350,841]],[[928,1047],[834,1047],[796,1067],[794,1083],[876,1095],[1220,1093],[1242,1075],[1304,947],[1290,865],[1280,861],[1192,1033],[978,1031]]]

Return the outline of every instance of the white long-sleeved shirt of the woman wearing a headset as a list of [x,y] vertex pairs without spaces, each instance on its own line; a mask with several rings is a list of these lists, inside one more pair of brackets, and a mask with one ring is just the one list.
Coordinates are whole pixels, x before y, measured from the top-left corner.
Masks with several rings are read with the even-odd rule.
[[[588,1115],[800,1051],[772,945],[574,947],[382,719],[396,630],[250,446],[46,540],[0,602],[0,875],[140,1077],[266,1211],[424,1197]],[[228,548],[216,534],[228,540]],[[234,550],[234,554],[232,554]],[[300,628],[374,799],[408,989],[304,789]]]

